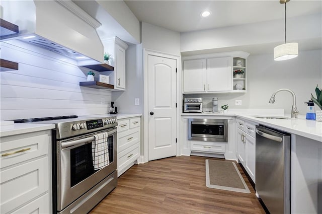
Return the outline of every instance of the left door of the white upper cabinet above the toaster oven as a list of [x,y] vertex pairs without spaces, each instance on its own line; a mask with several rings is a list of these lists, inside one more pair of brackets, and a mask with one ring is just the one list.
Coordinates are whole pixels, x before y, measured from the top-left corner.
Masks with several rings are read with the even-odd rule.
[[204,92],[205,91],[205,74],[206,59],[196,59],[184,61],[183,74],[183,91],[186,92]]

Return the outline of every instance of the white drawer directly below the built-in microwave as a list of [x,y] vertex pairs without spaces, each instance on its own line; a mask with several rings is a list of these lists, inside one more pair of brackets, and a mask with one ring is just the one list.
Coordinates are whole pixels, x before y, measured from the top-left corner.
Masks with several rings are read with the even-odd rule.
[[190,150],[195,152],[225,153],[225,143],[192,141]]

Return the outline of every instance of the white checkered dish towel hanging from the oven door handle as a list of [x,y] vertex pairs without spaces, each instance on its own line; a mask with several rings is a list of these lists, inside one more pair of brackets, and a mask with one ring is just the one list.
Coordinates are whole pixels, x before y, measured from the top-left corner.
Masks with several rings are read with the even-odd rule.
[[92,141],[92,154],[94,170],[99,170],[109,165],[109,150],[107,144],[107,132],[94,135],[95,139]]

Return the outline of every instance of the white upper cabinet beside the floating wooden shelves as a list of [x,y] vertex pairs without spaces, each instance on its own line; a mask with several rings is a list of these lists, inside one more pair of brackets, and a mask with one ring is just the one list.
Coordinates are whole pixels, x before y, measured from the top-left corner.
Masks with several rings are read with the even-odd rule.
[[114,85],[114,89],[125,91],[126,89],[126,49],[128,45],[118,37],[102,39],[104,52],[112,55],[110,63],[114,66],[114,71],[105,72],[109,76],[109,84]]

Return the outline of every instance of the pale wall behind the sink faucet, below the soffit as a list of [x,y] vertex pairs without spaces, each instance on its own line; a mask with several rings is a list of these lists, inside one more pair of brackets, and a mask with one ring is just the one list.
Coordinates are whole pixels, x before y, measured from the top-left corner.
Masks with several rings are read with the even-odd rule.
[[[202,97],[204,108],[212,108],[212,98],[217,97],[219,106],[228,104],[229,108],[283,108],[286,114],[290,114],[290,93],[279,92],[274,104],[268,102],[273,92],[286,88],[295,93],[297,108],[300,114],[305,115],[307,105],[304,102],[310,99],[311,93],[316,97],[316,85],[322,88],[321,58],[321,50],[300,51],[297,58],[286,61],[274,61],[273,54],[250,55],[247,58],[246,94],[197,94],[185,97]],[[241,100],[242,105],[236,106],[235,100]]]

